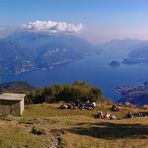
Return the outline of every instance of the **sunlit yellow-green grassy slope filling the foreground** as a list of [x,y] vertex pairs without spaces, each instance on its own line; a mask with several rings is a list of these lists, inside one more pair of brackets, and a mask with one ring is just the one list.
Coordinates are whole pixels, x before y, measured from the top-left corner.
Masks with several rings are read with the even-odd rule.
[[[94,118],[96,110],[107,112],[109,106],[98,106],[94,111],[59,110],[58,104],[26,106],[22,117],[0,120],[0,147],[148,147],[148,117],[101,120]],[[116,116],[124,118],[131,110],[122,108]],[[132,112],[143,110],[132,109]],[[37,136],[32,127],[44,129]]]

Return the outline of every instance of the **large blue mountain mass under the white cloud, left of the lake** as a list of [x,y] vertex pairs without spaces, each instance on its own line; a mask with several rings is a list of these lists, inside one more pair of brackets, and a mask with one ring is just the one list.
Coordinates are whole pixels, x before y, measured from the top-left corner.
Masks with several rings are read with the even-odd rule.
[[0,40],[0,73],[21,73],[72,62],[97,52],[73,34],[17,31]]

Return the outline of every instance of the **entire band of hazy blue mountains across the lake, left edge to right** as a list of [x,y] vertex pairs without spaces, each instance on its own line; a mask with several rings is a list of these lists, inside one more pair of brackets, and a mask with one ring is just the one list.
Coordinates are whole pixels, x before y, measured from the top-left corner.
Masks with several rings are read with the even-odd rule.
[[[117,55],[125,64],[148,61],[148,42],[111,40],[95,46],[71,33],[16,31],[0,39],[0,73],[21,73],[70,63],[92,54]],[[125,58],[125,59],[124,59]],[[116,60],[116,59],[112,59]]]

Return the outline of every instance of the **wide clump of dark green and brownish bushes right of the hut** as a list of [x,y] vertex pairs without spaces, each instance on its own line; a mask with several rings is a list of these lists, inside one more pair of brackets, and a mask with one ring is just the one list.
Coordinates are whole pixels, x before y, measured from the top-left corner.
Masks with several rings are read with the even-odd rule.
[[103,102],[105,98],[102,91],[97,87],[92,87],[86,82],[75,81],[72,85],[54,84],[49,87],[37,89],[27,94],[25,103],[37,104],[43,102]]

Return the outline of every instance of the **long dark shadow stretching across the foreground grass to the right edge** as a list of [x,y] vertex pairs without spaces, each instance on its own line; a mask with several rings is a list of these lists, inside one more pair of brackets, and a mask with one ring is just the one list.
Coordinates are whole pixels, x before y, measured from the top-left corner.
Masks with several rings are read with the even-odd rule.
[[148,139],[148,126],[141,124],[115,124],[101,122],[100,124],[83,124],[83,127],[68,129],[69,132],[94,138],[120,139],[120,138],[146,138]]

